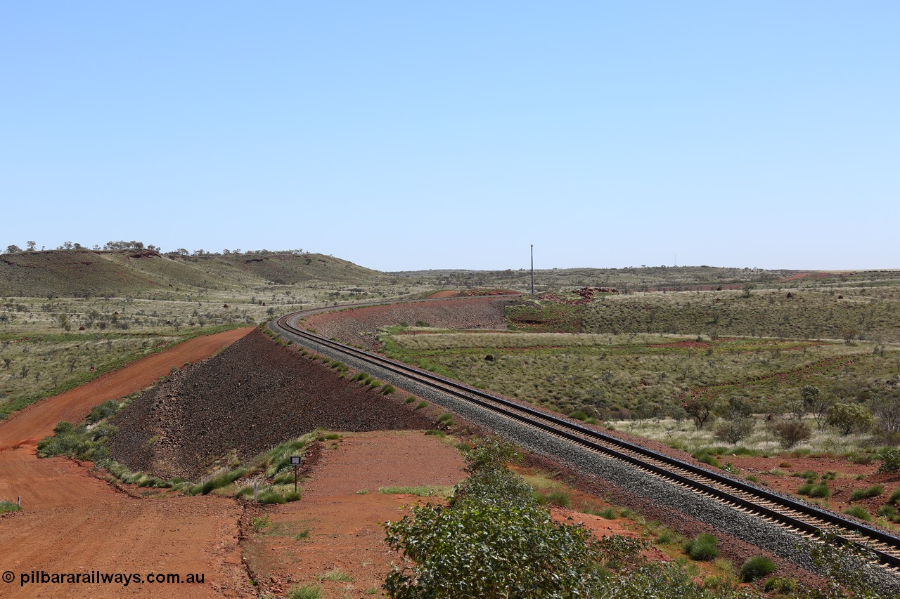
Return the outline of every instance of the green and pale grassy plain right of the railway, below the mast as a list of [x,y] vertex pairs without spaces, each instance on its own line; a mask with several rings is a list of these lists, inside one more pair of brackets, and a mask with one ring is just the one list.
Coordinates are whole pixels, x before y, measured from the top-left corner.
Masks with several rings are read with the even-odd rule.
[[900,353],[873,353],[869,342],[402,329],[382,339],[398,360],[564,414],[581,410],[600,419],[683,417],[680,402],[692,394],[744,398],[757,412],[777,412],[799,399],[805,385],[831,389],[900,369]]

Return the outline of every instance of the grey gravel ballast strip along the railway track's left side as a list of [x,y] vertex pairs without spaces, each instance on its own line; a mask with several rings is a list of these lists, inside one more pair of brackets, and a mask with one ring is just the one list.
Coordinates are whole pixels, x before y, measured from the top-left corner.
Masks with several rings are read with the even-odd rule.
[[[651,477],[628,466],[624,462],[581,449],[571,443],[566,443],[541,433],[527,425],[518,424],[504,416],[492,414],[480,407],[465,403],[436,389],[430,389],[419,383],[401,379],[401,377],[384,371],[377,366],[338,354],[320,344],[304,341],[300,337],[284,331],[284,329],[277,328],[274,324],[271,326],[288,339],[293,339],[295,342],[304,344],[316,352],[346,362],[352,368],[369,372],[380,380],[390,382],[398,389],[406,389],[421,398],[453,410],[469,421],[482,425],[495,434],[520,444],[528,451],[558,460],[563,465],[589,477],[607,480],[615,486],[625,489],[627,493],[643,497],[658,505],[684,514],[689,518],[707,523],[717,531],[751,543],[801,568],[806,568],[817,574],[823,574],[815,566],[808,552],[798,549],[798,546],[806,542],[806,538],[796,532],[790,532],[757,516],[745,514],[733,507],[719,504],[712,499],[699,496],[684,488],[665,483],[659,478]],[[900,595],[900,577],[884,568],[867,566],[867,570],[872,577],[873,588]]]

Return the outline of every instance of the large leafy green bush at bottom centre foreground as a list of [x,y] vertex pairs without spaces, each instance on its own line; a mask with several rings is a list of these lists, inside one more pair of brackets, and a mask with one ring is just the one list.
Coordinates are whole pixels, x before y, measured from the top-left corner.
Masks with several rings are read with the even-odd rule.
[[385,525],[385,541],[407,559],[384,583],[389,596],[590,596],[599,584],[597,542],[583,526],[550,519],[506,469],[513,455],[499,442],[471,451],[469,478],[450,505],[415,506]]

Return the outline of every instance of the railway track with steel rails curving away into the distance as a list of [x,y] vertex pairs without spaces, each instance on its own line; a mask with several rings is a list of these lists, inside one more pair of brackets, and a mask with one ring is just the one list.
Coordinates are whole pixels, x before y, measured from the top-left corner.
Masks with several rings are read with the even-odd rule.
[[[345,308],[345,306],[341,308]],[[790,497],[780,496],[766,489],[755,487],[743,480],[700,468],[634,443],[627,443],[565,418],[546,414],[506,398],[492,396],[481,389],[474,389],[455,380],[449,380],[428,371],[420,371],[407,364],[365,352],[351,345],[341,344],[313,334],[294,324],[298,319],[320,311],[325,310],[294,312],[278,318],[270,326],[277,333],[293,335],[306,343],[317,344],[332,352],[377,366],[431,389],[438,389],[454,398],[512,419],[519,425],[537,429],[543,434],[553,435],[568,443],[575,443],[589,451],[596,451],[616,460],[625,461],[649,476],[688,488],[744,513],[756,514],[768,522],[778,524],[788,530],[799,532],[807,537],[819,537],[824,534],[834,541],[848,543],[867,551],[879,565],[900,572],[900,538],[894,535],[814,505],[807,505]]]

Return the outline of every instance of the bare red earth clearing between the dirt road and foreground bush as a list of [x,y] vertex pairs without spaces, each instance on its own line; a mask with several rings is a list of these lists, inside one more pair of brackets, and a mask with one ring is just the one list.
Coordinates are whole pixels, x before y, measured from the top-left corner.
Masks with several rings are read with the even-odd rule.
[[[400,520],[409,513],[408,505],[441,500],[385,495],[379,489],[453,486],[465,478],[460,453],[448,440],[421,431],[385,431],[344,434],[339,441],[320,443],[315,455],[304,472],[309,479],[302,483],[299,502],[247,508],[242,543],[247,567],[260,590],[277,595],[302,585],[320,586],[325,597],[335,599],[382,595],[384,577],[401,556],[384,544],[381,523]],[[576,503],[579,497],[572,496]],[[599,536],[638,534],[627,528],[627,520],[565,508],[552,513],[559,522],[584,521]],[[256,520],[259,530],[254,530],[254,519],[266,517],[267,523]],[[653,558],[662,555],[656,551]]]

